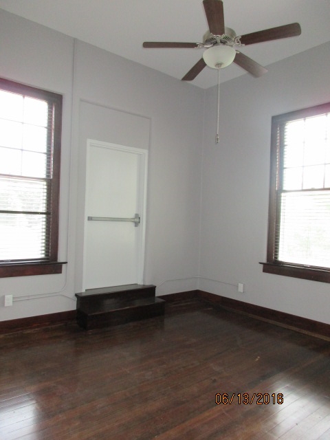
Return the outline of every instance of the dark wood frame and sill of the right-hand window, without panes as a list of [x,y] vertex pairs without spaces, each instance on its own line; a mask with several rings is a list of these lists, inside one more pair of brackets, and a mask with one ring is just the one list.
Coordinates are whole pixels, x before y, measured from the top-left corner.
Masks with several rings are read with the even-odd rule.
[[309,118],[314,115],[330,112],[330,103],[320,104],[318,106],[292,111],[283,115],[277,115],[272,118],[272,138],[270,155],[270,202],[268,215],[268,239],[267,239],[267,262],[263,265],[263,272],[267,274],[276,274],[283,276],[292,276],[294,278],[303,278],[311,281],[320,281],[330,283],[330,269],[325,267],[316,267],[309,265],[299,265],[276,261],[275,236],[276,225],[279,222],[279,206],[277,203],[277,190],[280,185],[281,175],[281,142],[278,142],[278,126],[285,124],[290,120],[298,118]]

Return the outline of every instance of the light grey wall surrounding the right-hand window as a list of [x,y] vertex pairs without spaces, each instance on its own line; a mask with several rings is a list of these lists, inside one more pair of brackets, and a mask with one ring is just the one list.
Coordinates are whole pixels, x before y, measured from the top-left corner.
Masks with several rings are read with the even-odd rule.
[[[272,115],[330,101],[330,43],[206,92],[199,288],[330,323],[330,285],[263,274],[266,259]],[[245,293],[237,292],[245,283]]]

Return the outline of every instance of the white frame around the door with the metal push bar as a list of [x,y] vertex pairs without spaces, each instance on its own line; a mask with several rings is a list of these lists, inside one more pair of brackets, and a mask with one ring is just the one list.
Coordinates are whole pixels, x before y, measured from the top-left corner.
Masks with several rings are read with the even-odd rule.
[[[84,221],[84,247],[83,247],[83,291],[86,286],[86,252],[87,252],[87,188],[89,183],[89,154],[92,147],[108,148],[113,151],[122,151],[137,155],[138,161],[138,188],[137,188],[137,212],[140,214],[140,225],[137,228],[137,284],[143,284],[144,278],[144,255],[146,248],[146,192],[148,181],[148,150],[143,148],[135,148],[133,146],[125,146],[104,142],[100,140],[87,139],[86,152],[86,187],[85,187],[85,221]],[[108,286],[104,286],[108,287]]]

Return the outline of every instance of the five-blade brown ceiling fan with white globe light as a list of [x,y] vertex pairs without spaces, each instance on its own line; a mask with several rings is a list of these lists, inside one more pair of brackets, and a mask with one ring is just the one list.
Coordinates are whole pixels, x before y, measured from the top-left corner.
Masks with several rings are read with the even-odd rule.
[[264,41],[285,39],[289,36],[301,34],[299,23],[291,23],[289,25],[278,26],[277,28],[236,36],[234,30],[225,28],[223,2],[221,0],[203,0],[203,7],[209,27],[209,32],[206,32],[203,36],[203,43],[168,43],[155,41],[145,41],[143,43],[143,47],[146,48],[205,48],[203,58],[197,61],[182,78],[183,81],[194,80],[206,65],[219,70],[223,67],[227,67],[232,62],[245,69],[249,74],[259,77],[265,74],[267,69],[242,54],[239,50],[236,50],[236,47],[262,43]]

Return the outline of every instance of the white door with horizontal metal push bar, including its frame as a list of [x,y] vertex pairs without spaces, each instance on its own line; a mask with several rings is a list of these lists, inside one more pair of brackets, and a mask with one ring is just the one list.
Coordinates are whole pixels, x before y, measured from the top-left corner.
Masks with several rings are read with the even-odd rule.
[[142,284],[147,154],[87,141],[85,289]]

